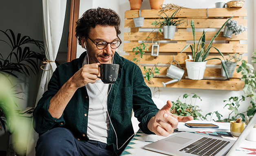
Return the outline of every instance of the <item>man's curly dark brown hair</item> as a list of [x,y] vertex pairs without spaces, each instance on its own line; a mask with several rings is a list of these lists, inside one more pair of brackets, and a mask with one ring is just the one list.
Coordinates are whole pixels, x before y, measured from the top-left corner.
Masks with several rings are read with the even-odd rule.
[[121,33],[119,30],[120,17],[115,11],[100,7],[89,9],[76,22],[75,37],[77,37],[79,45],[81,45],[81,37],[88,37],[90,28],[95,28],[97,24],[115,26],[117,35]]

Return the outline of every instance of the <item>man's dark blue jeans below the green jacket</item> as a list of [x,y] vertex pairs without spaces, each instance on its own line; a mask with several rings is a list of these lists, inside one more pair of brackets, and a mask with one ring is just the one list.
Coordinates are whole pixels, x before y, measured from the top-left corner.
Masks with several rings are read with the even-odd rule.
[[113,156],[113,147],[106,143],[75,139],[66,128],[53,128],[39,136],[36,156]]

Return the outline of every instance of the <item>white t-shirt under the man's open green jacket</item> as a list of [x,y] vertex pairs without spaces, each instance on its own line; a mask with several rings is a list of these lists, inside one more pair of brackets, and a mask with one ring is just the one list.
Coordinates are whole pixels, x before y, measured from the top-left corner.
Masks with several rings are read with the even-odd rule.
[[[84,64],[87,64],[87,57]],[[89,97],[87,136],[90,140],[107,143],[109,133],[109,118],[107,114],[107,92],[108,84],[102,80],[86,85]]]

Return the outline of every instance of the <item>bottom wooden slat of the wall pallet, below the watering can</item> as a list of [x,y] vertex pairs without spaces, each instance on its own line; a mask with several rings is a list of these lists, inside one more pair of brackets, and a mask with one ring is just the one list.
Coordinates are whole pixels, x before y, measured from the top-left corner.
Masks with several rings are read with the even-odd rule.
[[[149,87],[163,87],[162,82],[168,82],[171,78],[152,78],[150,81],[144,78]],[[181,79],[179,82],[171,83],[166,87],[192,88],[192,89],[216,89],[216,90],[242,90],[244,82],[237,80],[190,80]]]

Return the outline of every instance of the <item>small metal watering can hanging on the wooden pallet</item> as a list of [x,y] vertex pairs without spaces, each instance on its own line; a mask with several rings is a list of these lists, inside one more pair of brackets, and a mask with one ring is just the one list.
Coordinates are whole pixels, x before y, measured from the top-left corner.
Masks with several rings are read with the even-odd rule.
[[[174,56],[173,56],[173,61],[176,62],[177,65],[179,65],[179,63],[174,60]],[[170,80],[170,81],[168,81],[166,83],[162,82],[163,87],[166,87],[166,85],[168,85],[170,83],[174,83],[174,82],[180,81],[182,76],[184,75],[185,70],[182,69],[180,65],[179,65],[179,67],[176,67],[176,66],[172,65],[172,62],[171,62],[170,68],[167,69],[166,76],[172,78],[173,80]]]

